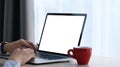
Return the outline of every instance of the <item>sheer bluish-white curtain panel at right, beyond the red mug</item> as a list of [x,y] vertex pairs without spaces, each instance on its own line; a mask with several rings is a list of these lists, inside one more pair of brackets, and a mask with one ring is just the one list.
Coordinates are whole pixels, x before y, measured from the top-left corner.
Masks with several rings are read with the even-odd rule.
[[93,0],[92,47],[102,56],[120,57],[119,0]]

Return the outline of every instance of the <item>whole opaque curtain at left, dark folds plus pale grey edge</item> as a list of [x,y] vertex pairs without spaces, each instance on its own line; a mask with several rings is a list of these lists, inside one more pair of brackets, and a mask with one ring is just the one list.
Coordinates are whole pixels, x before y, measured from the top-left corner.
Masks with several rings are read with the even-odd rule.
[[3,41],[22,38],[34,42],[33,4],[33,0],[4,0]]

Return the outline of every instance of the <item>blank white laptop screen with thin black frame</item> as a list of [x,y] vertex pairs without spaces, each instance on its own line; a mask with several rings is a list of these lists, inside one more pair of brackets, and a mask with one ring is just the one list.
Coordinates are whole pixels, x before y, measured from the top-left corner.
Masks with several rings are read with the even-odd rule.
[[39,50],[67,54],[78,46],[86,14],[48,13],[40,38]]

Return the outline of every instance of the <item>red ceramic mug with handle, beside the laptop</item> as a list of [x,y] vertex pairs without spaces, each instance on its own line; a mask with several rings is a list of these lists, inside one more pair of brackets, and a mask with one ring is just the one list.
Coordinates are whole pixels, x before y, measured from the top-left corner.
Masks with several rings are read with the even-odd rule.
[[75,58],[79,65],[87,65],[90,60],[91,53],[92,48],[90,47],[74,47],[73,49],[68,50],[68,56]]

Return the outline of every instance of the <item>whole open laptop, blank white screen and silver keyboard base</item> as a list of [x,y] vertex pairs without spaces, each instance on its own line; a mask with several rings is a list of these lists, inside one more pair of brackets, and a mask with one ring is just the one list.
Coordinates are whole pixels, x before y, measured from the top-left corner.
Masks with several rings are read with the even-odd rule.
[[67,51],[80,46],[87,14],[47,13],[36,58],[29,64],[68,62]]

